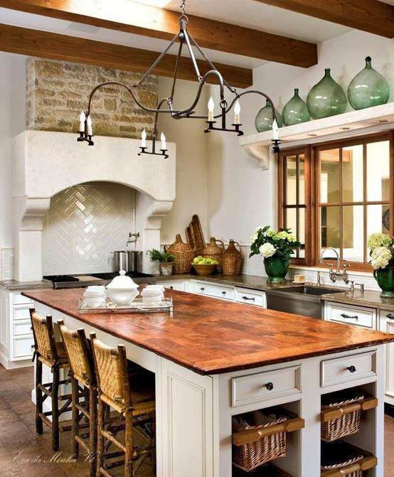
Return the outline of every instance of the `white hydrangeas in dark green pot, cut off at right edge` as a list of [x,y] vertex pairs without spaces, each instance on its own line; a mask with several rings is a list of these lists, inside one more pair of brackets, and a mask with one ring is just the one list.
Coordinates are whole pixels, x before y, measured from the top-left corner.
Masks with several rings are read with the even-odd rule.
[[367,242],[373,277],[382,289],[381,296],[394,298],[394,240],[390,235],[372,234]]

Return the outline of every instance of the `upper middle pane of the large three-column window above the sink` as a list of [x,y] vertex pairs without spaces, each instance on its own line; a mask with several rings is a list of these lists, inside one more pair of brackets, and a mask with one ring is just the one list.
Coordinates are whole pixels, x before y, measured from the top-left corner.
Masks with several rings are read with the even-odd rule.
[[342,200],[363,201],[363,146],[342,149]]

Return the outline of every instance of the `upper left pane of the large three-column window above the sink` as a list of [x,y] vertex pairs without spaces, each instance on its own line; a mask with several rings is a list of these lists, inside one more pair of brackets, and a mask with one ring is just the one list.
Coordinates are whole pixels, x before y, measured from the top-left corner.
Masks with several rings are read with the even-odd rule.
[[339,149],[321,151],[320,159],[320,202],[339,202]]

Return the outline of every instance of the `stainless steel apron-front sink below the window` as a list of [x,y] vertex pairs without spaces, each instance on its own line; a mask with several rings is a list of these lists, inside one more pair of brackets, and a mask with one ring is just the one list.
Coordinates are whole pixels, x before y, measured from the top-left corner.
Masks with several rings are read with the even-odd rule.
[[331,293],[343,293],[343,289],[323,286],[289,286],[289,288],[267,290],[267,309],[286,311],[296,315],[323,317],[323,302],[320,296]]

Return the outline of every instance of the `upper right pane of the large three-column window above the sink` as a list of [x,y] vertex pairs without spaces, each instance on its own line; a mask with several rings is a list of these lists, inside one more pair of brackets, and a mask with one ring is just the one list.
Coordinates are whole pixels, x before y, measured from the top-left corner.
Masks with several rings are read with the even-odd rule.
[[367,200],[390,200],[390,143],[367,144]]

